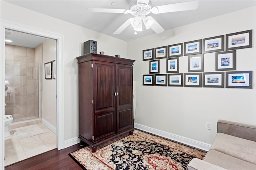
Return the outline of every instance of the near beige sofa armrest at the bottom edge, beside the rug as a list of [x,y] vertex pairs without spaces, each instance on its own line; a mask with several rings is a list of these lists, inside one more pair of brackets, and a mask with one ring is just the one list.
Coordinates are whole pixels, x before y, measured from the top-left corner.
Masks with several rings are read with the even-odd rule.
[[206,162],[204,160],[200,160],[198,158],[193,158],[188,166],[187,170],[226,170],[225,168],[222,168],[220,166],[211,164],[209,162]]

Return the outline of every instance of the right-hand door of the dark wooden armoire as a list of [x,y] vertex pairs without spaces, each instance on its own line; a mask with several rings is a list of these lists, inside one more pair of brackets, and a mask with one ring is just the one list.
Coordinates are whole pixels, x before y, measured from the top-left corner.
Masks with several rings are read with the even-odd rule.
[[116,123],[117,132],[133,128],[132,66],[116,65]]

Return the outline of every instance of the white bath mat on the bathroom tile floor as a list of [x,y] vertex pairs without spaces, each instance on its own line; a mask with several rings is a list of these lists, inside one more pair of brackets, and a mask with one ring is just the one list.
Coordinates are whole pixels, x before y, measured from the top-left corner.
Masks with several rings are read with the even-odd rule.
[[13,132],[17,139],[22,139],[42,134],[44,131],[37,125],[29,125],[26,127],[15,128],[13,129]]

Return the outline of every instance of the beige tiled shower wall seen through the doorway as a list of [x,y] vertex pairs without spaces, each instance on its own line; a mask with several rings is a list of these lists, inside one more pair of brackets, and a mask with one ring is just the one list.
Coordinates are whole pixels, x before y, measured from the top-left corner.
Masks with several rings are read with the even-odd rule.
[[5,48],[5,80],[9,81],[5,114],[12,115],[13,122],[38,118],[35,49],[7,44]]

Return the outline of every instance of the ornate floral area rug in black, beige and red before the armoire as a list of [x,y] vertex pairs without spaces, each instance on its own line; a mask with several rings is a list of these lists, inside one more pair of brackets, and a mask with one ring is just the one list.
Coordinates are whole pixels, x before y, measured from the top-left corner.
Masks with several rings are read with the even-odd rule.
[[134,130],[98,146],[86,146],[69,155],[85,170],[186,170],[190,160],[205,152]]

